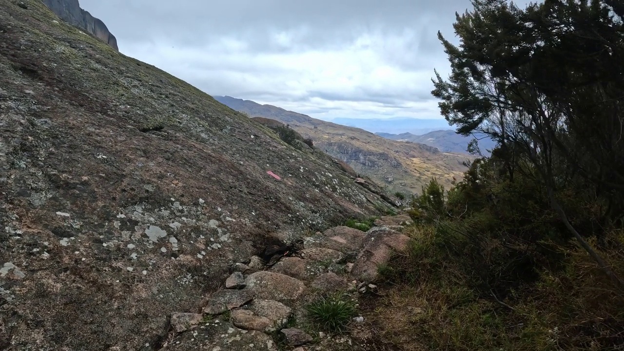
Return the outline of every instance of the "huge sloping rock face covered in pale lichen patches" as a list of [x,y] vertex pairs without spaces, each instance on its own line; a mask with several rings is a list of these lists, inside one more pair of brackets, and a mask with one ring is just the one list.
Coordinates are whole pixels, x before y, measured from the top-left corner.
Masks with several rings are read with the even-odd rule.
[[383,202],[40,0],[18,2],[0,0],[1,350],[158,349],[172,313],[201,313],[273,237]]

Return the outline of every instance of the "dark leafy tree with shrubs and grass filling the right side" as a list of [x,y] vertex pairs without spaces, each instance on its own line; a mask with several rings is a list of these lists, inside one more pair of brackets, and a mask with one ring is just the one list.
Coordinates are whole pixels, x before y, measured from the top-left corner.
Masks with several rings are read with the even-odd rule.
[[458,132],[498,145],[446,197],[432,180],[412,200],[416,240],[380,267],[397,287],[376,313],[420,312],[382,336],[406,350],[620,349],[624,6],[472,3],[459,46],[439,34],[451,76],[436,72],[432,94]]

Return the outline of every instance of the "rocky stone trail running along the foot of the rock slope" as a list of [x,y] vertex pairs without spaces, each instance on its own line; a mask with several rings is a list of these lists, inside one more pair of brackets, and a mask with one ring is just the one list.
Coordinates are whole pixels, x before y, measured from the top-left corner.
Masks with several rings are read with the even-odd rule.
[[376,289],[378,265],[404,252],[401,234],[407,215],[381,217],[363,232],[339,226],[291,244],[268,245],[260,257],[230,267],[220,290],[196,310],[170,316],[162,350],[368,350],[358,336],[363,317],[354,315],[348,332],[323,332],[305,305],[326,295],[358,300]]

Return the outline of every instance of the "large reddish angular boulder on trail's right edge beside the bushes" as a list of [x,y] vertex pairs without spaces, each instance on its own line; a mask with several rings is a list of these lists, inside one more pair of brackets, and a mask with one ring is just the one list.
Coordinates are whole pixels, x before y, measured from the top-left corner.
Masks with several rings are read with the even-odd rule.
[[393,252],[406,252],[411,239],[388,227],[374,227],[366,232],[366,237],[366,245],[359,252],[351,275],[371,282],[378,277],[379,265],[388,263]]

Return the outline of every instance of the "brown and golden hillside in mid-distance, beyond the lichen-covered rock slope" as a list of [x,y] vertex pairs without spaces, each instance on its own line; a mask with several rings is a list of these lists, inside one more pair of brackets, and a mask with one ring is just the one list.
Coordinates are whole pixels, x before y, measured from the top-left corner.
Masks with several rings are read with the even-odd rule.
[[215,99],[250,117],[265,117],[290,125],[303,137],[313,139],[319,150],[384,184],[390,192],[420,192],[431,177],[449,186],[453,177],[461,179],[466,170],[463,162],[471,158],[440,152],[424,144],[391,141],[363,129],[321,121],[276,106],[229,96],[215,96]]

